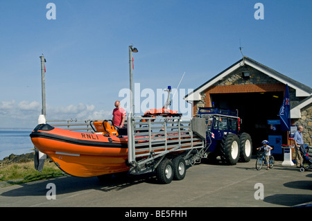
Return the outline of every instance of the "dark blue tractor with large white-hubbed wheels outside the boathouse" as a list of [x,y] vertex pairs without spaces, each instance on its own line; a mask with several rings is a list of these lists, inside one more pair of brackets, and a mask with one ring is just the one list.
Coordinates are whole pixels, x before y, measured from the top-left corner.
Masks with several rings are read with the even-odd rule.
[[236,111],[215,107],[200,107],[197,117],[206,120],[208,159],[220,156],[228,165],[248,162],[252,156],[250,134],[240,133],[241,119]]

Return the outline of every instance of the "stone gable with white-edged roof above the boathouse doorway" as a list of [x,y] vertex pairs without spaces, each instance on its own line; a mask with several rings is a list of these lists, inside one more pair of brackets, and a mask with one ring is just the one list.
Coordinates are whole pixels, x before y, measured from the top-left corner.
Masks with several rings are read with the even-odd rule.
[[[248,72],[250,76],[244,78],[244,72]],[[207,106],[209,105],[209,97],[206,96],[208,91],[209,94],[284,91],[286,84],[291,94],[291,116],[297,118],[300,116],[300,109],[311,103],[312,98],[303,103],[301,100],[311,96],[312,89],[248,57],[232,64],[231,67],[200,85],[185,96],[184,100]],[[297,105],[298,103],[300,105]]]

